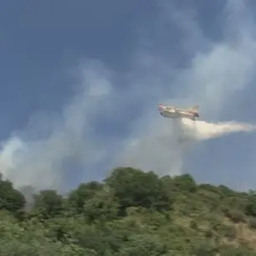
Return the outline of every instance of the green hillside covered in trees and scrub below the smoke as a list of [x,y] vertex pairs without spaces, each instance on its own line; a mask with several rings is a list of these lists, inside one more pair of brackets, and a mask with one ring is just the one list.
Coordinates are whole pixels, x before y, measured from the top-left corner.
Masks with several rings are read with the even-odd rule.
[[0,183],[0,255],[256,255],[256,194],[119,167],[33,207]]

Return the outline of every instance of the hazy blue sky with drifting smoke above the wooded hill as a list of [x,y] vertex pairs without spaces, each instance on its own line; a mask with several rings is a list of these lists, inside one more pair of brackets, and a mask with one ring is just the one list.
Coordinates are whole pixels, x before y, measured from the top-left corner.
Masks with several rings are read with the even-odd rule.
[[[160,102],[199,104],[203,120],[256,123],[253,7],[242,0],[2,1],[5,176],[17,186],[64,189],[125,164],[256,187],[255,134],[184,153],[161,139],[172,122],[156,110]],[[132,143],[140,144],[133,153]]]

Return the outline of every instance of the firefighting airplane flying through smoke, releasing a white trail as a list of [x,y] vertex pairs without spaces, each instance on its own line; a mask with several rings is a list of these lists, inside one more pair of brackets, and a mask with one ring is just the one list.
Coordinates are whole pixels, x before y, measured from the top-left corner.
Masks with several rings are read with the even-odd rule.
[[194,105],[189,109],[178,109],[177,107],[170,105],[158,105],[160,115],[168,118],[188,118],[190,120],[196,120],[196,117],[200,117],[198,109],[198,105]]

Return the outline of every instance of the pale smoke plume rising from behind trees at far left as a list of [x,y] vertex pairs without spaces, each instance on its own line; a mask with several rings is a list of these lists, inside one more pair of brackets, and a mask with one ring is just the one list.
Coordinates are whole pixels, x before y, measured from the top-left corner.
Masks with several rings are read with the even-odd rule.
[[[2,143],[0,172],[15,187],[63,190],[70,169],[100,161],[104,150],[90,140],[90,122],[98,104],[105,104],[111,86],[100,64],[90,63],[79,72],[78,91],[59,115],[36,115],[27,129]],[[91,108],[93,106],[93,108]],[[33,134],[33,135],[32,135]],[[74,163],[68,169],[67,164]],[[88,173],[90,177],[90,173]],[[86,173],[84,173],[86,177]]]

